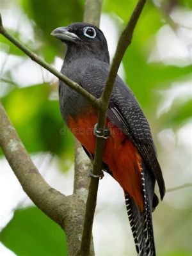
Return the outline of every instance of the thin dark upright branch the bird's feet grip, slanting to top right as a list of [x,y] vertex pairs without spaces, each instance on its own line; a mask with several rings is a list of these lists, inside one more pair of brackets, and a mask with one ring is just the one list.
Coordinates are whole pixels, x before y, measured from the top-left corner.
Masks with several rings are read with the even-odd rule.
[[[118,45],[115,52],[115,57],[113,58],[113,63],[109,71],[108,79],[104,92],[100,97],[100,109],[98,111],[98,130],[104,131],[106,122],[106,113],[108,111],[109,100],[113,90],[113,84],[115,83],[116,74],[118,72],[118,67],[124,56],[127,47],[131,44],[132,35],[134,28],[138,19],[141,15],[141,11],[145,5],[146,0],[139,0],[131,18],[125,27],[120,39],[118,40]],[[93,161],[93,174],[99,175],[102,170],[102,155],[104,151],[105,140],[102,138],[97,138],[95,147],[95,156]],[[97,202],[97,190],[99,186],[99,179],[92,179],[90,182],[90,188],[88,192],[88,199],[86,202],[86,213],[84,217],[84,227],[83,236],[81,241],[81,249],[79,255],[89,255],[90,252],[90,241],[92,235],[93,217],[95,214],[95,207]]]

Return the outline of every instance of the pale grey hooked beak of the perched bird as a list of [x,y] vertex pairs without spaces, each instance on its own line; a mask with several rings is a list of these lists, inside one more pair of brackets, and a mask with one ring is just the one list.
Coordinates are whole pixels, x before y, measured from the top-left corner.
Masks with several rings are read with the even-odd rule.
[[68,31],[67,27],[56,28],[51,32],[52,36],[62,40],[75,42],[76,40],[81,40],[79,36]]

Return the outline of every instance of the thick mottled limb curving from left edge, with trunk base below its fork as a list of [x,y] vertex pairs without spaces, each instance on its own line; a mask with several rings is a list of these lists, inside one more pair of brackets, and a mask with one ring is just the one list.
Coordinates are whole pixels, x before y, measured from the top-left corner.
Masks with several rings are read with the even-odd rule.
[[[0,147],[22,188],[36,206],[65,231],[68,255],[74,256],[80,247],[87,192],[77,189],[71,196],[51,188],[31,161],[0,102]],[[93,246],[90,255],[94,255]]]

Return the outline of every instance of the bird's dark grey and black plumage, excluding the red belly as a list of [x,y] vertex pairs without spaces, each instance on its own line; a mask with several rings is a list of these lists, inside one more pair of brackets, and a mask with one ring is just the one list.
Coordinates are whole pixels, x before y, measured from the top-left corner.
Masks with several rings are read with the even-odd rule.
[[[93,28],[96,33],[95,38],[93,38],[95,34],[92,33],[94,31],[88,31],[90,35],[85,35],[85,28]],[[60,29],[62,30],[62,28]],[[66,28],[64,29],[66,31]],[[67,52],[61,72],[99,98],[109,73],[109,53],[106,38],[100,29],[91,24],[74,23],[67,27],[67,31],[72,33],[70,40],[65,35],[57,36],[57,31],[54,35],[67,44]],[[75,38],[75,36],[78,38]],[[62,81],[60,81],[59,94],[61,114],[67,124],[69,116],[76,118],[79,114],[86,113],[87,109],[93,108],[88,100],[70,89]],[[154,194],[154,186],[157,180],[161,199],[163,199],[164,180],[157,161],[156,149],[147,119],[133,93],[119,76],[116,77],[109,102],[108,118],[116,127],[124,131],[124,134],[138,148],[143,159],[141,179],[144,179],[142,183],[144,210],[140,212],[132,198],[126,193],[125,202],[129,202],[127,211],[129,220],[133,223],[131,228],[138,255],[154,256],[156,252],[151,212],[158,204],[157,196]],[[106,166],[106,163],[104,165]]]

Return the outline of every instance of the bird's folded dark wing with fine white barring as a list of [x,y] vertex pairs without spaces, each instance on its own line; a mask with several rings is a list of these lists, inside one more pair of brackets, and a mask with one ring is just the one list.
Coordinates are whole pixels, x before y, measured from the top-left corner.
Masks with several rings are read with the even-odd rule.
[[147,163],[156,177],[161,199],[163,199],[165,193],[163,175],[157,161],[154,142],[145,115],[136,101],[132,101],[131,104],[130,102],[126,103],[125,94],[120,100],[117,94],[115,97],[112,95],[112,100],[108,110],[109,120],[122,129],[138,148],[143,161]]

